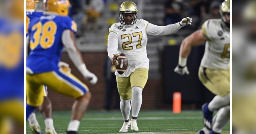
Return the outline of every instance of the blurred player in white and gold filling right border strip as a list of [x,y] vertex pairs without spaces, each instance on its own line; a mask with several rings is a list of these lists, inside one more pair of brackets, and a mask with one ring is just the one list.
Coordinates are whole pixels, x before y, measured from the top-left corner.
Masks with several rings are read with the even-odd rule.
[[232,133],[256,134],[256,1],[239,7],[242,21],[232,26]]

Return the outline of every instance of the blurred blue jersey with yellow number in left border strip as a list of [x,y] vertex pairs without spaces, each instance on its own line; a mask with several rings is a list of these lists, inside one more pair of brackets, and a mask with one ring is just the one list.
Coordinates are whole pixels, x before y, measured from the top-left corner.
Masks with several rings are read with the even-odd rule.
[[0,101],[24,99],[24,23],[0,19]]

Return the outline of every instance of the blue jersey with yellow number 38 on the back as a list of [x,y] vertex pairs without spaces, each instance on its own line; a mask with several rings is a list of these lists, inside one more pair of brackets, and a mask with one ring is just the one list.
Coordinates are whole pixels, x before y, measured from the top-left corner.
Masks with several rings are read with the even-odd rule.
[[70,29],[76,33],[76,23],[68,16],[43,15],[29,23],[31,52],[26,67],[33,73],[58,70],[62,49],[62,33]]

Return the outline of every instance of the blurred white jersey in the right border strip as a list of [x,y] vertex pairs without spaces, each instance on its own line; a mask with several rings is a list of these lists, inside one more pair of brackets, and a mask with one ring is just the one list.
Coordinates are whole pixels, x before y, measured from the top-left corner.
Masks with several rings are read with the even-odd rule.
[[232,29],[232,93],[256,91],[256,45],[247,39],[244,28]]

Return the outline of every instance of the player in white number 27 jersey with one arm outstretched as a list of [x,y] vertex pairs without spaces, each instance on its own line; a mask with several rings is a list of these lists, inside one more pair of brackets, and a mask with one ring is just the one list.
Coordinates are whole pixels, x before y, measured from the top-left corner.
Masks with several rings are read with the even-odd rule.
[[123,2],[119,9],[120,23],[114,23],[109,28],[107,52],[112,63],[115,63],[121,53],[124,53],[128,59],[126,72],[123,74],[115,72],[121,98],[120,109],[124,118],[124,124],[119,132],[127,132],[129,127],[132,131],[138,131],[136,121],[142,104],[142,90],[146,85],[149,71],[147,35],[169,35],[192,24],[192,19],[186,17],[172,25],[157,26],[143,19],[137,19],[137,15],[138,9],[134,2]]

